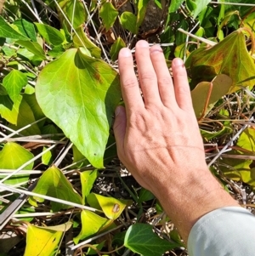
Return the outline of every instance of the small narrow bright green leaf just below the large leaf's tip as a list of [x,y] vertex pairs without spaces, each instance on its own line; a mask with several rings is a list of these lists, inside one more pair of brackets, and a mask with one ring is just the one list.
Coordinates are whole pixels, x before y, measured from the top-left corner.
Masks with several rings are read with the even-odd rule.
[[85,203],[85,199],[89,195],[91,189],[93,188],[94,181],[97,179],[97,177],[98,170],[84,171],[83,173],[80,173],[83,203]]

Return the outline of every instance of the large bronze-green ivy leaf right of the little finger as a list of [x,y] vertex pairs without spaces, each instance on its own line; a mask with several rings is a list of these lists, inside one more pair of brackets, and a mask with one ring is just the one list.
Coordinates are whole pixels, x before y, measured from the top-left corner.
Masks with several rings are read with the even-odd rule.
[[[228,50],[226,50],[228,49]],[[228,75],[233,83],[229,90],[234,92],[240,86],[252,88],[255,83],[255,65],[247,52],[245,36],[241,29],[225,37],[212,48],[199,48],[190,54],[192,82],[212,81],[218,74]],[[189,58],[189,59],[190,59]]]

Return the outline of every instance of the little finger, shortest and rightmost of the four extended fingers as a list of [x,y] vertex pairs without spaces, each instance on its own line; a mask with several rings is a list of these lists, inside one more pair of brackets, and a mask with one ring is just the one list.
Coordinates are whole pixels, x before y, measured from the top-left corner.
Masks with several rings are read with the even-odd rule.
[[178,106],[185,110],[193,110],[190,86],[184,62],[181,59],[174,59],[172,62],[174,92]]

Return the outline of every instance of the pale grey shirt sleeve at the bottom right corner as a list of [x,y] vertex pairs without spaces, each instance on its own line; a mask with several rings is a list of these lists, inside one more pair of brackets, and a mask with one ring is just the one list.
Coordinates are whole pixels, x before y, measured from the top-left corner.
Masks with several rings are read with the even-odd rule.
[[241,207],[207,213],[190,230],[188,252],[190,256],[255,255],[255,216]]

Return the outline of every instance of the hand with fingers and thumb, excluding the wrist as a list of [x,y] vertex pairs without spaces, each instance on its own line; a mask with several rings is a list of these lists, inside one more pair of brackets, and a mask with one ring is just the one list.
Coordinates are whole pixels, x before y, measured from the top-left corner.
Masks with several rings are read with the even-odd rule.
[[[118,156],[139,184],[157,194],[156,183],[183,181],[191,168],[207,170],[201,135],[192,107],[190,87],[180,59],[173,60],[173,81],[158,45],[136,45],[139,83],[133,58],[119,54],[122,96],[114,124]],[[175,180],[176,179],[176,180]]]

